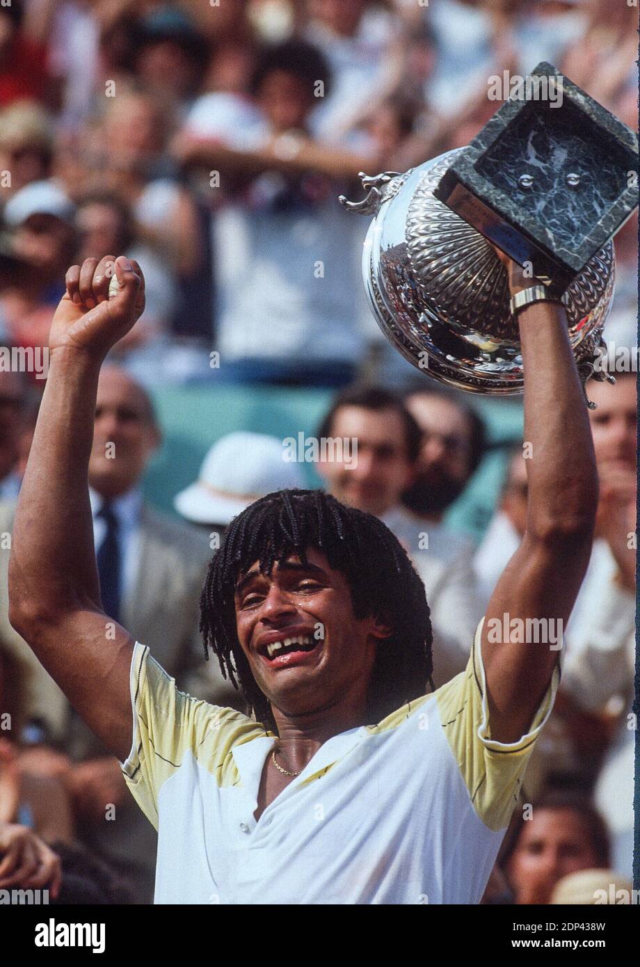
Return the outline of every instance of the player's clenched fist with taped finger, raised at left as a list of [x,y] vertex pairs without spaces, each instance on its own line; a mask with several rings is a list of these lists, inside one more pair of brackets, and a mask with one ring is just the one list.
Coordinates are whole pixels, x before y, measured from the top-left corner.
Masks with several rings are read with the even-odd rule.
[[[115,276],[118,285],[109,283]],[[49,351],[80,350],[100,361],[133,328],[144,311],[144,276],[124,255],[87,258],[73,265],[67,291],[55,310]]]

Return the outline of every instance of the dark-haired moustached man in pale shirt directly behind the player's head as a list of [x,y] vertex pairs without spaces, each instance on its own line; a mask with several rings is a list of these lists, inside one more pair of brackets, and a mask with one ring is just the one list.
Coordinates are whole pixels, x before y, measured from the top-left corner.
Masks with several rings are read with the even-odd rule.
[[[433,681],[436,688],[462,671],[480,620],[469,555],[439,556],[420,522],[409,528],[399,510],[420,454],[420,427],[399,397],[370,388],[337,396],[318,428],[320,441],[337,439],[334,458],[318,472],[335,498],[374,513],[395,533],[422,577],[433,627]],[[353,450],[353,441],[357,450]],[[394,525],[401,522],[398,531]],[[426,534],[427,540],[424,540]]]

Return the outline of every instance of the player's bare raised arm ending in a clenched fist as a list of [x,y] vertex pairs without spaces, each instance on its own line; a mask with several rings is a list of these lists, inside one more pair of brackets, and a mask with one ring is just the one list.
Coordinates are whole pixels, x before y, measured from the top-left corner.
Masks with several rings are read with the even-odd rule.
[[[114,263],[120,289],[109,299]],[[9,566],[12,625],[121,760],[131,747],[133,643],[102,611],[88,466],[102,361],[143,308],[142,273],[122,256],[87,259],[67,273]]]

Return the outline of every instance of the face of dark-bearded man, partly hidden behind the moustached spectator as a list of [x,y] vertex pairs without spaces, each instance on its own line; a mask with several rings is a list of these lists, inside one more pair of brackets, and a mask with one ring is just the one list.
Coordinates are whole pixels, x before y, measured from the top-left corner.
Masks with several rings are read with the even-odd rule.
[[405,502],[416,513],[442,513],[469,478],[469,422],[454,403],[439,396],[415,394],[406,402],[422,429],[422,448]]

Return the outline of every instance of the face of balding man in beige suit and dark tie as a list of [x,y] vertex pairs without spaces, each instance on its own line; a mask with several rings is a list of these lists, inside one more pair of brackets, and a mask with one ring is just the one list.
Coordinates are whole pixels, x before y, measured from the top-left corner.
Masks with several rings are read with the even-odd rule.
[[89,460],[91,486],[105,498],[126,493],[140,480],[158,444],[142,391],[125,373],[103,369]]

